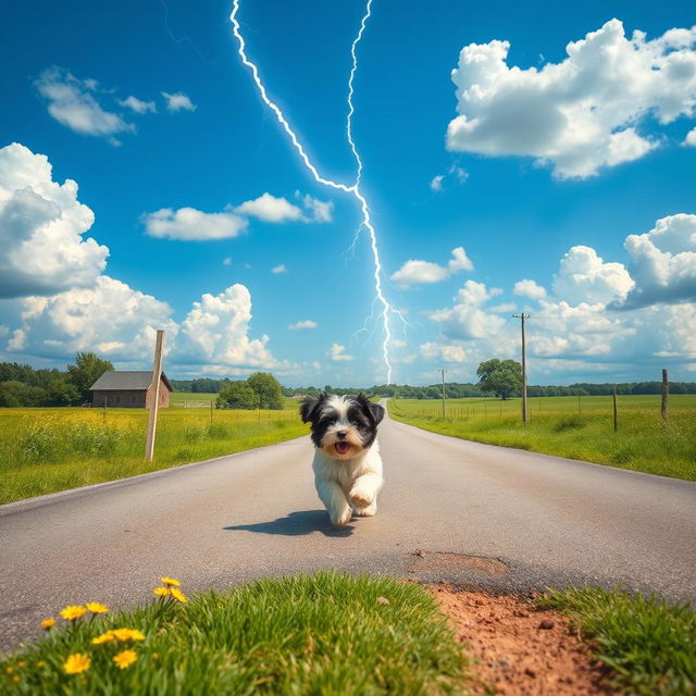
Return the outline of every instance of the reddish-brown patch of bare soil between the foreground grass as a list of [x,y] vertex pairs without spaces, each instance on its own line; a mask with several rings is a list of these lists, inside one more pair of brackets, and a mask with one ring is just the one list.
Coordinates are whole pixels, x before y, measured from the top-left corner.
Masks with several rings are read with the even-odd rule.
[[[620,696],[601,685],[606,672],[558,611],[523,598],[432,587],[482,682],[507,696]],[[481,692],[485,692],[484,686]]]

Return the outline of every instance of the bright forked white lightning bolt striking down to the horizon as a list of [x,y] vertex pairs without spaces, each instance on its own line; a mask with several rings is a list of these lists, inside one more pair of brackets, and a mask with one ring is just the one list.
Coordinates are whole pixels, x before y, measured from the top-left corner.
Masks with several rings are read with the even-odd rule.
[[269,97],[265,90],[265,87],[261,82],[261,77],[259,76],[259,69],[247,57],[246,42],[244,40],[244,36],[241,36],[239,22],[237,20],[238,12],[239,12],[239,0],[234,0],[232,14],[229,15],[229,21],[232,22],[232,32],[235,38],[237,39],[237,42],[239,44],[239,47],[238,47],[239,58],[241,59],[241,62],[251,71],[253,82],[257,86],[257,89],[259,90],[259,94],[261,95],[261,99],[264,101],[265,105],[269,107],[269,109],[271,109],[271,111],[273,111],[273,113],[275,114],[276,119],[278,120],[278,123],[281,124],[281,126],[283,127],[287,136],[290,138],[290,142],[293,144],[298,154],[300,156],[300,159],[304,163],[304,166],[310,171],[310,173],[314,177],[314,181],[316,181],[319,184],[322,184],[324,186],[328,186],[331,188],[341,190],[345,194],[350,194],[356,198],[356,200],[360,206],[360,211],[362,213],[362,222],[360,224],[360,227],[368,231],[368,234],[370,236],[370,248],[372,250],[372,258],[374,261],[374,273],[373,273],[374,288],[375,288],[376,299],[380,301],[382,306],[381,316],[382,316],[382,325],[384,330],[384,341],[382,344],[382,353],[384,358],[384,363],[387,369],[387,384],[390,384],[391,383],[391,362],[389,361],[389,344],[391,341],[391,330],[389,327],[389,313],[391,312],[391,306],[389,304],[386,297],[384,296],[384,293],[382,291],[382,261],[380,259],[377,233],[374,228],[374,225],[372,224],[372,217],[370,215],[370,206],[368,204],[368,200],[365,199],[365,197],[363,196],[360,189],[360,182],[362,178],[362,160],[360,159],[358,148],[356,147],[356,142],[352,138],[352,115],[355,113],[355,108],[352,103],[352,97],[355,94],[353,79],[356,76],[356,72],[358,71],[357,48],[358,48],[358,44],[360,44],[360,40],[362,39],[362,35],[365,30],[368,20],[371,16],[372,0],[368,0],[365,14],[363,15],[362,22],[360,23],[360,30],[358,32],[358,35],[356,36],[350,47],[350,55],[352,58],[352,67],[350,69],[350,77],[348,78],[348,119],[346,123],[346,133],[348,137],[348,142],[350,145],[350,149],[352,151],[353,158],[356,159],[356,164],[358,166],[356,181],[353,184],[350,184],[350,185],[343,184],[340,182],[334,182],[330,178],[325,178],[319,173],[319,170],[316,169],[316,166],[314,166],[312,161],[309,159],[309,156],[304,151],[302,144],[299,141],[299,139],[295,135],[295,132],[293,130],[293,128],[290,127],[290,124],[288,123],[287,119],[283,114],[283,111]]

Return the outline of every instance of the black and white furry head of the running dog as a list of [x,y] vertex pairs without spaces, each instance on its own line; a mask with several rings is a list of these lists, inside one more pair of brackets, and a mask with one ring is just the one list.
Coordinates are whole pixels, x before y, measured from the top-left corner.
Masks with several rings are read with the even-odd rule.
[[368,449],[377,436],[384,409],[363,394],[322,394],[300,406],[303,423],[312,424],[312,442],[334,459],[352,459]]

